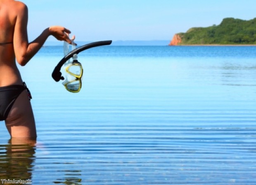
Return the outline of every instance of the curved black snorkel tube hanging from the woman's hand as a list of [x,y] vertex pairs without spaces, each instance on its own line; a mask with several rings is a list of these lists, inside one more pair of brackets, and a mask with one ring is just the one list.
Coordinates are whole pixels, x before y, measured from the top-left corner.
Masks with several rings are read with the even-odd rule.
[[111,40],[92,42],[92,43],[85,44],[79,48],[72,50],[66,56],[64,56],[64,58],[62,58],[62,60],[59,61],[59,63],[57,64],[57,66],[54,68],[54,70],[52,72],[52,78],[57,82],[60,80],[64,80],[64,77],[62,76],[62,73],[60,72],[60,70],[62,68],[62,65],[64,65],[64,63],[67,60],[69,60],[71,57],[73,57],[73,55],[78,54],[81,51],[84,51],[86,49],[90,49],[90,48],[97,47],[97,46],[110,45],[111,43],[112,43]]

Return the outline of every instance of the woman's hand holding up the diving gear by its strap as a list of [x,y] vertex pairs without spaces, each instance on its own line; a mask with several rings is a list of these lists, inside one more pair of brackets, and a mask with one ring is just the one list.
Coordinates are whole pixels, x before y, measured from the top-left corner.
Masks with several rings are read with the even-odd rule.
[[49,28],[50,35],[55,37],[57,40],[66,41],[69,44],[72,44],[72,40],[69,38],[71,31],[62,26],[51,26]]

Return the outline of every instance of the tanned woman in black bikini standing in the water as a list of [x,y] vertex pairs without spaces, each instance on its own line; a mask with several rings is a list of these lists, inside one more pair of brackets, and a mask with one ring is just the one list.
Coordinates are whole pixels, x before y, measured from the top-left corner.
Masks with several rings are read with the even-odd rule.
[[70,31],[49,27],[28,43],[28,9],[22,2],[0,0],[0,120],[12,138],[36,138],[36,125],[28,89],[16,65],[24,66],[50,35],[71,44]]

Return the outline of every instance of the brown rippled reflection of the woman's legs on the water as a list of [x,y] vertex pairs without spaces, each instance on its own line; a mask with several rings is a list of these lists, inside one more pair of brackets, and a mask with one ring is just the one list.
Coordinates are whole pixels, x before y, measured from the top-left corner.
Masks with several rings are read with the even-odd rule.
[[0,145],[0,179],[31,180],[35,153],[35,140],[12,138]]

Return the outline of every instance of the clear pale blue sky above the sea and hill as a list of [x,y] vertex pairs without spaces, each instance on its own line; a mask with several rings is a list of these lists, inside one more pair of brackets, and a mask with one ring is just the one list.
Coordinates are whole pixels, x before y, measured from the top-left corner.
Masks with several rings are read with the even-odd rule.
[[[256,17],[256,0],[22,0],[29,10],[28,36],[50,25],[69,28],[77,41],[171,40],[191,27],[223,18]],[[48,41],[54,41],[49,37]]]

